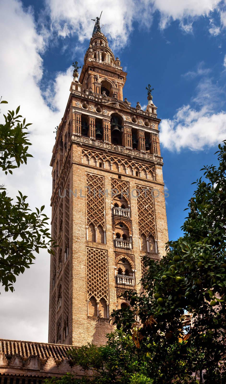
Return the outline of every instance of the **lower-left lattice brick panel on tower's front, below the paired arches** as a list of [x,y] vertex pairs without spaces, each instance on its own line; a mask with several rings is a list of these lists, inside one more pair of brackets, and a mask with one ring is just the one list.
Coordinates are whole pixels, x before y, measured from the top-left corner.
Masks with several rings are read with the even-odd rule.
[[87,248],[87,290],[88,297],[105,298],[108,302],[106,250]]

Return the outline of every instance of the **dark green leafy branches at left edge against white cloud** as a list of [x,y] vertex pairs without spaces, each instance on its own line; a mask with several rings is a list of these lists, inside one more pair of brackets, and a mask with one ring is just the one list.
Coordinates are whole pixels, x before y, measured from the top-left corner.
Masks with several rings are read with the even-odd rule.
[[[5,174],[12,174],[12,169],[20,167],[23,162],[26,164],[27,158],[32,157],[27,152],[31,143],[26,130],[30,124],[25,124],[25,119],[21,122],[19,110],[20,107],[16,113],[8,111],[8,115],[4,115],[5,124],[0,124],[0,167]],[[48,248],[48,252],[53,253],[50,233],[45,228],[48,217],[41,213],[44,205],[32,212],[26,202],[27,196],[18,193],[13,203],[6,189],[0,187],[0,283],[5,291],[10,289],[12,292],[16,276],[33,264],[33,252]]]

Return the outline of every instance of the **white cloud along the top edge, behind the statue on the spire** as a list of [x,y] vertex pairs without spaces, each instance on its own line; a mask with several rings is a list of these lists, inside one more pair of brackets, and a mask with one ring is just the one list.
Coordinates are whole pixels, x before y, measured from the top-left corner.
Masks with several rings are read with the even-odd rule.
[[[78,33],[81,42],[91,37],[91,19],[99,16],[103,10],[100,24],[104,24],[102,31],[111,38],[113,48],[127,44],[133,22],[138,22],[139,28],[150,27],[156,11],[160,13],[161,29],[179,20],[180,28],[191,33],[193,21],[200,16],[210,15],[220,3],[220,0],[46,0],[53,31],[62,37]],[[212,32],[216,34],[217,29]]]

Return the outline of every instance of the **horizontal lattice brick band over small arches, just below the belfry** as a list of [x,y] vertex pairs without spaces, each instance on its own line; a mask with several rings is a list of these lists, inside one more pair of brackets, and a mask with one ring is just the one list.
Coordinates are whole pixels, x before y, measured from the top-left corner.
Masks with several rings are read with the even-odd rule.
[[104,164],[106,161],[109,161],[111,166],[113,164],[117,164],[118,167],[124,165],[125,169],[127,169],[129,166],[134,170],[134,172],[137,170],[138,172],[141,172],[144,170],[146,174],[151,174],[152,178],[155,179],[155,167],[154,166],[149,166],[147,164],[142,164],[141,162],[129,160],[129,159],[124,159],[119,156],[111,156],[108,154],[103,154],[102,152],[97,152],[97,151],[89,151],[86,149],[82,149],[82,157],[86,155],[89,160],[93,158],[96,162],[102,161]]

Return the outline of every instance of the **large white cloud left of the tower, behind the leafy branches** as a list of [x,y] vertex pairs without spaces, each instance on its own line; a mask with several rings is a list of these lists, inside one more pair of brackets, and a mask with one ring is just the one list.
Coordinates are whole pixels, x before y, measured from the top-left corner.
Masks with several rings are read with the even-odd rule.
[[[54,145],[53,129],[63,116],[72,76],[69,70],[56,74],[48,99],[54,109],[49,108],[39,87],[45,41],[36,31],[33,15],[17,0],[2,0],[0,14],[4,15],[1,18],[4,36],[0,39],[0,96],[9,103],[1,105],[0,118],[3,119],[8,108],[15,110],[20,104],[26,121],[33,122],[30,153],[34,156],[27,166],[21,166],[12,176],[4,177],[1,172],[1,183],[6,185],[11,197],[16,196],[18,189],[28,195],[32,209],[45,204],[45,213],[51,217],[49,162]],[[14,293],[0,289],[4,308],[0,316],[1,338],[47,341],[50,261],[44,250],[36,257],[35,265],[17,279]]]

